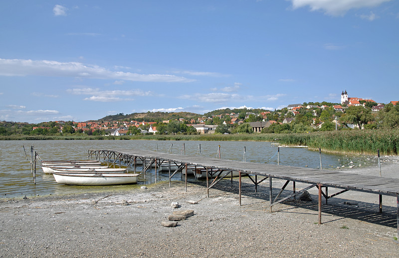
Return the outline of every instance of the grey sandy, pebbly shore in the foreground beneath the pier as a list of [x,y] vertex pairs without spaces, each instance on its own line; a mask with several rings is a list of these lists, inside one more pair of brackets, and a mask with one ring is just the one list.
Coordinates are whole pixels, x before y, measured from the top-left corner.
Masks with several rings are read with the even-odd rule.
[[[396,161],[384,167],[393,175],[398,168]],[[245,178],[242,206],[237,179],[232,188],[222,180],[210,198],[203,184],[189,183],[187,193],[175,181],[171,188],[162,182],[124,192],[1,199],[0,257],[399,257],[394,197],[384,197],[379,214],[377,195],[347,192],[323,204],[318,225],[314,190],[313,201],[289,200],[270,213],[267,183],[254,193]],[[161,226],[173,211],[187,209],[195,215],[175,228]]]

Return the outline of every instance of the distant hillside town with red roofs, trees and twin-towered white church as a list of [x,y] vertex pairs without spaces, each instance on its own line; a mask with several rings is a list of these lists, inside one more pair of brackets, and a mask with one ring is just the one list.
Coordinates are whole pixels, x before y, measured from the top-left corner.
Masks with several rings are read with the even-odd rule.
[[97,121],[49,121],[39,124],[0,122],[0,135],[136,135],[203,133],[288,133],[341,129],[378,129],[399,126],[399,101],[379,103],[349,97],[340,103],[290,104],[275,111],[224,109],[204,115],[179,112],[123,113]]

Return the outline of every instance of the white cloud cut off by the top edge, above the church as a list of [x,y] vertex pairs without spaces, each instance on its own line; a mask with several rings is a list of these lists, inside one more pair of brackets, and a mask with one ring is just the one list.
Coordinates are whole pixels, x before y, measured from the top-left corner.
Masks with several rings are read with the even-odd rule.
[[311,11],[322,10],[326,14],[344,15],[350,9],[369,8],[391,0],[291,0],[294,9],[309,6]]

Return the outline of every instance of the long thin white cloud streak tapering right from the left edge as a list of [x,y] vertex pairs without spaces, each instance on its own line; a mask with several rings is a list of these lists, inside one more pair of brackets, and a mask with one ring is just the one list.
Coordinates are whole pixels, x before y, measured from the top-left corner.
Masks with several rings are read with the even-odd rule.
[[1,59],[0,75],[3,76],[51,76],[89,79],[113,79],[140,82],[193,82],[195,80],[168,74],[137,74],[110,71],[103,67],[78,62],[61,63],[47,60]]

